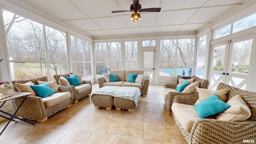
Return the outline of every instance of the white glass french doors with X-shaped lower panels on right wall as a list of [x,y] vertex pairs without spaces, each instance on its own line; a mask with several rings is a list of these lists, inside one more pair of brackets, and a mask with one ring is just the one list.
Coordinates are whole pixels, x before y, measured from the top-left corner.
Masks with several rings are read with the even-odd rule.
[[253,64],[250,59],[254,38],[252,35],[212,45],[210,90],[216,90],[220,82],[246,90],[252,75],[249,68]]

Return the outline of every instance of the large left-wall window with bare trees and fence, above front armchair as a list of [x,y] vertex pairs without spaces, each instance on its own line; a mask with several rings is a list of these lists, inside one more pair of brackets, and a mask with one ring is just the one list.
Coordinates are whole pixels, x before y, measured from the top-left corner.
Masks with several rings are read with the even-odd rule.
[[64,32],[6,10],[2,11],[12,80],[41,76],[48,76],[52,80],[54,74],[67,72]]

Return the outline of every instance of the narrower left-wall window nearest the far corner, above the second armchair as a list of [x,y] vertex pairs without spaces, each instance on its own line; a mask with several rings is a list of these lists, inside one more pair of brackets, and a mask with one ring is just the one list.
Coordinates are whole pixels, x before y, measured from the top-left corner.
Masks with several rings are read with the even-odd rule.
[[72,49],[72,69],[74,74],[83,74],[83,76],[92,75],[92,60],[90,42],[86,42],[74,36],[71,37]]

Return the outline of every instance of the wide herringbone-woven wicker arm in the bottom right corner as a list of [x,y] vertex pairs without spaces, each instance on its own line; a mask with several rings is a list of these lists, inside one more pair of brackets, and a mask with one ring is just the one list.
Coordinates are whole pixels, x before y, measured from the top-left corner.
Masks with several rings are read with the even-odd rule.
[[229,122],[215,119],[198,119],[191,129],[192,144],[242,144],[255,140],[256,122]]

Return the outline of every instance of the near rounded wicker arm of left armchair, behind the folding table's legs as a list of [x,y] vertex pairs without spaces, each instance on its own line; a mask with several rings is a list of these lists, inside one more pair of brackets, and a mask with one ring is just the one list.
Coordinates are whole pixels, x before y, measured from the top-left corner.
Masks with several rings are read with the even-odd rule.
[[[22,100],[24,100],[24,96],[12,99],[12,109],[17,110]],[[39,96],[28,96],[18,110],[17,114],[23,118],[41,120],[45,117],[45,109],[46,106],[42,101],[42,98]]]

